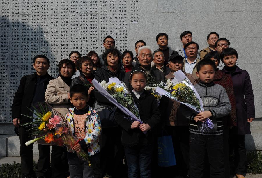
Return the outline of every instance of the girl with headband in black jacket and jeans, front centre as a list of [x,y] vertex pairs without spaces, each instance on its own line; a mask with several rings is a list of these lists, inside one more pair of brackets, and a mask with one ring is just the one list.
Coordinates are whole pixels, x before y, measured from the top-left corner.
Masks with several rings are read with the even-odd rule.
[[144,89],[146,76],[146,72],[140,68],[130,74],[130,83],[133,88],[131,95],[143,123],[130,122],[124,118],[120,110],[116,112],[116,122],[123,127],[121,142],[125,147],[128,177],[151,177],[152,132],[157,124],[160,124],[161,115],[154,96]]

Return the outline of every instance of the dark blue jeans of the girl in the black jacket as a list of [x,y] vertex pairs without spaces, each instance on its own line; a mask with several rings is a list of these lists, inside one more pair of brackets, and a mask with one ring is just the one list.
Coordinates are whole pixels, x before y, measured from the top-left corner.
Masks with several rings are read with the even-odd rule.
[[[125,146],[128,178],[150,178],[153,145]],[[140,170],[140,174],[139,174]]]

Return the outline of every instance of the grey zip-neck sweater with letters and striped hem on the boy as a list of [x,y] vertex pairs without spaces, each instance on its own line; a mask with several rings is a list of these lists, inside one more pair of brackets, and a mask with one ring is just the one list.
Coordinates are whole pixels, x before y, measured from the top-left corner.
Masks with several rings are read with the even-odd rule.
[[214,128],[201,132],[203,122],[195,122],[195,111],[181,104],[180,109],[183,115],[189,119],[189,132],[202,135],[221,135],[223,134],[223,119],[231,111],[231,104],[226,94],[226,90],[221,85],[211,83],[198,83],[194,85],[202,99],[204,111],[210,111],[212,116],[209,118],[214,124]]

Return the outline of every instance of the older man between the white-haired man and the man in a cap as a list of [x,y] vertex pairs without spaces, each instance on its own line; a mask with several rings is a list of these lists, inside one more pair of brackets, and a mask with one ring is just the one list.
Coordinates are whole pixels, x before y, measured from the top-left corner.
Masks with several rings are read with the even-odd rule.
[[166,65],[164,65],[165,56],[163,51],[155,51],[153,61],[155,65],[153,65],[152,70],[160,70],[164,73],[164,75],[169,74],[171,70]]

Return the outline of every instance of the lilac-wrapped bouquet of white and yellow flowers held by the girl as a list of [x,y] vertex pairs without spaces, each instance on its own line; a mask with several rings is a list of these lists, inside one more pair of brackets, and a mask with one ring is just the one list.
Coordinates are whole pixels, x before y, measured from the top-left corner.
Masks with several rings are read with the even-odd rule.
[[99,83],[93,79],[92,83],[103,96],[128,116],[126,119],[143,123],[134,98],[123,81],[121,82],[118,78],[109,78],[109,82],[103,80]]

